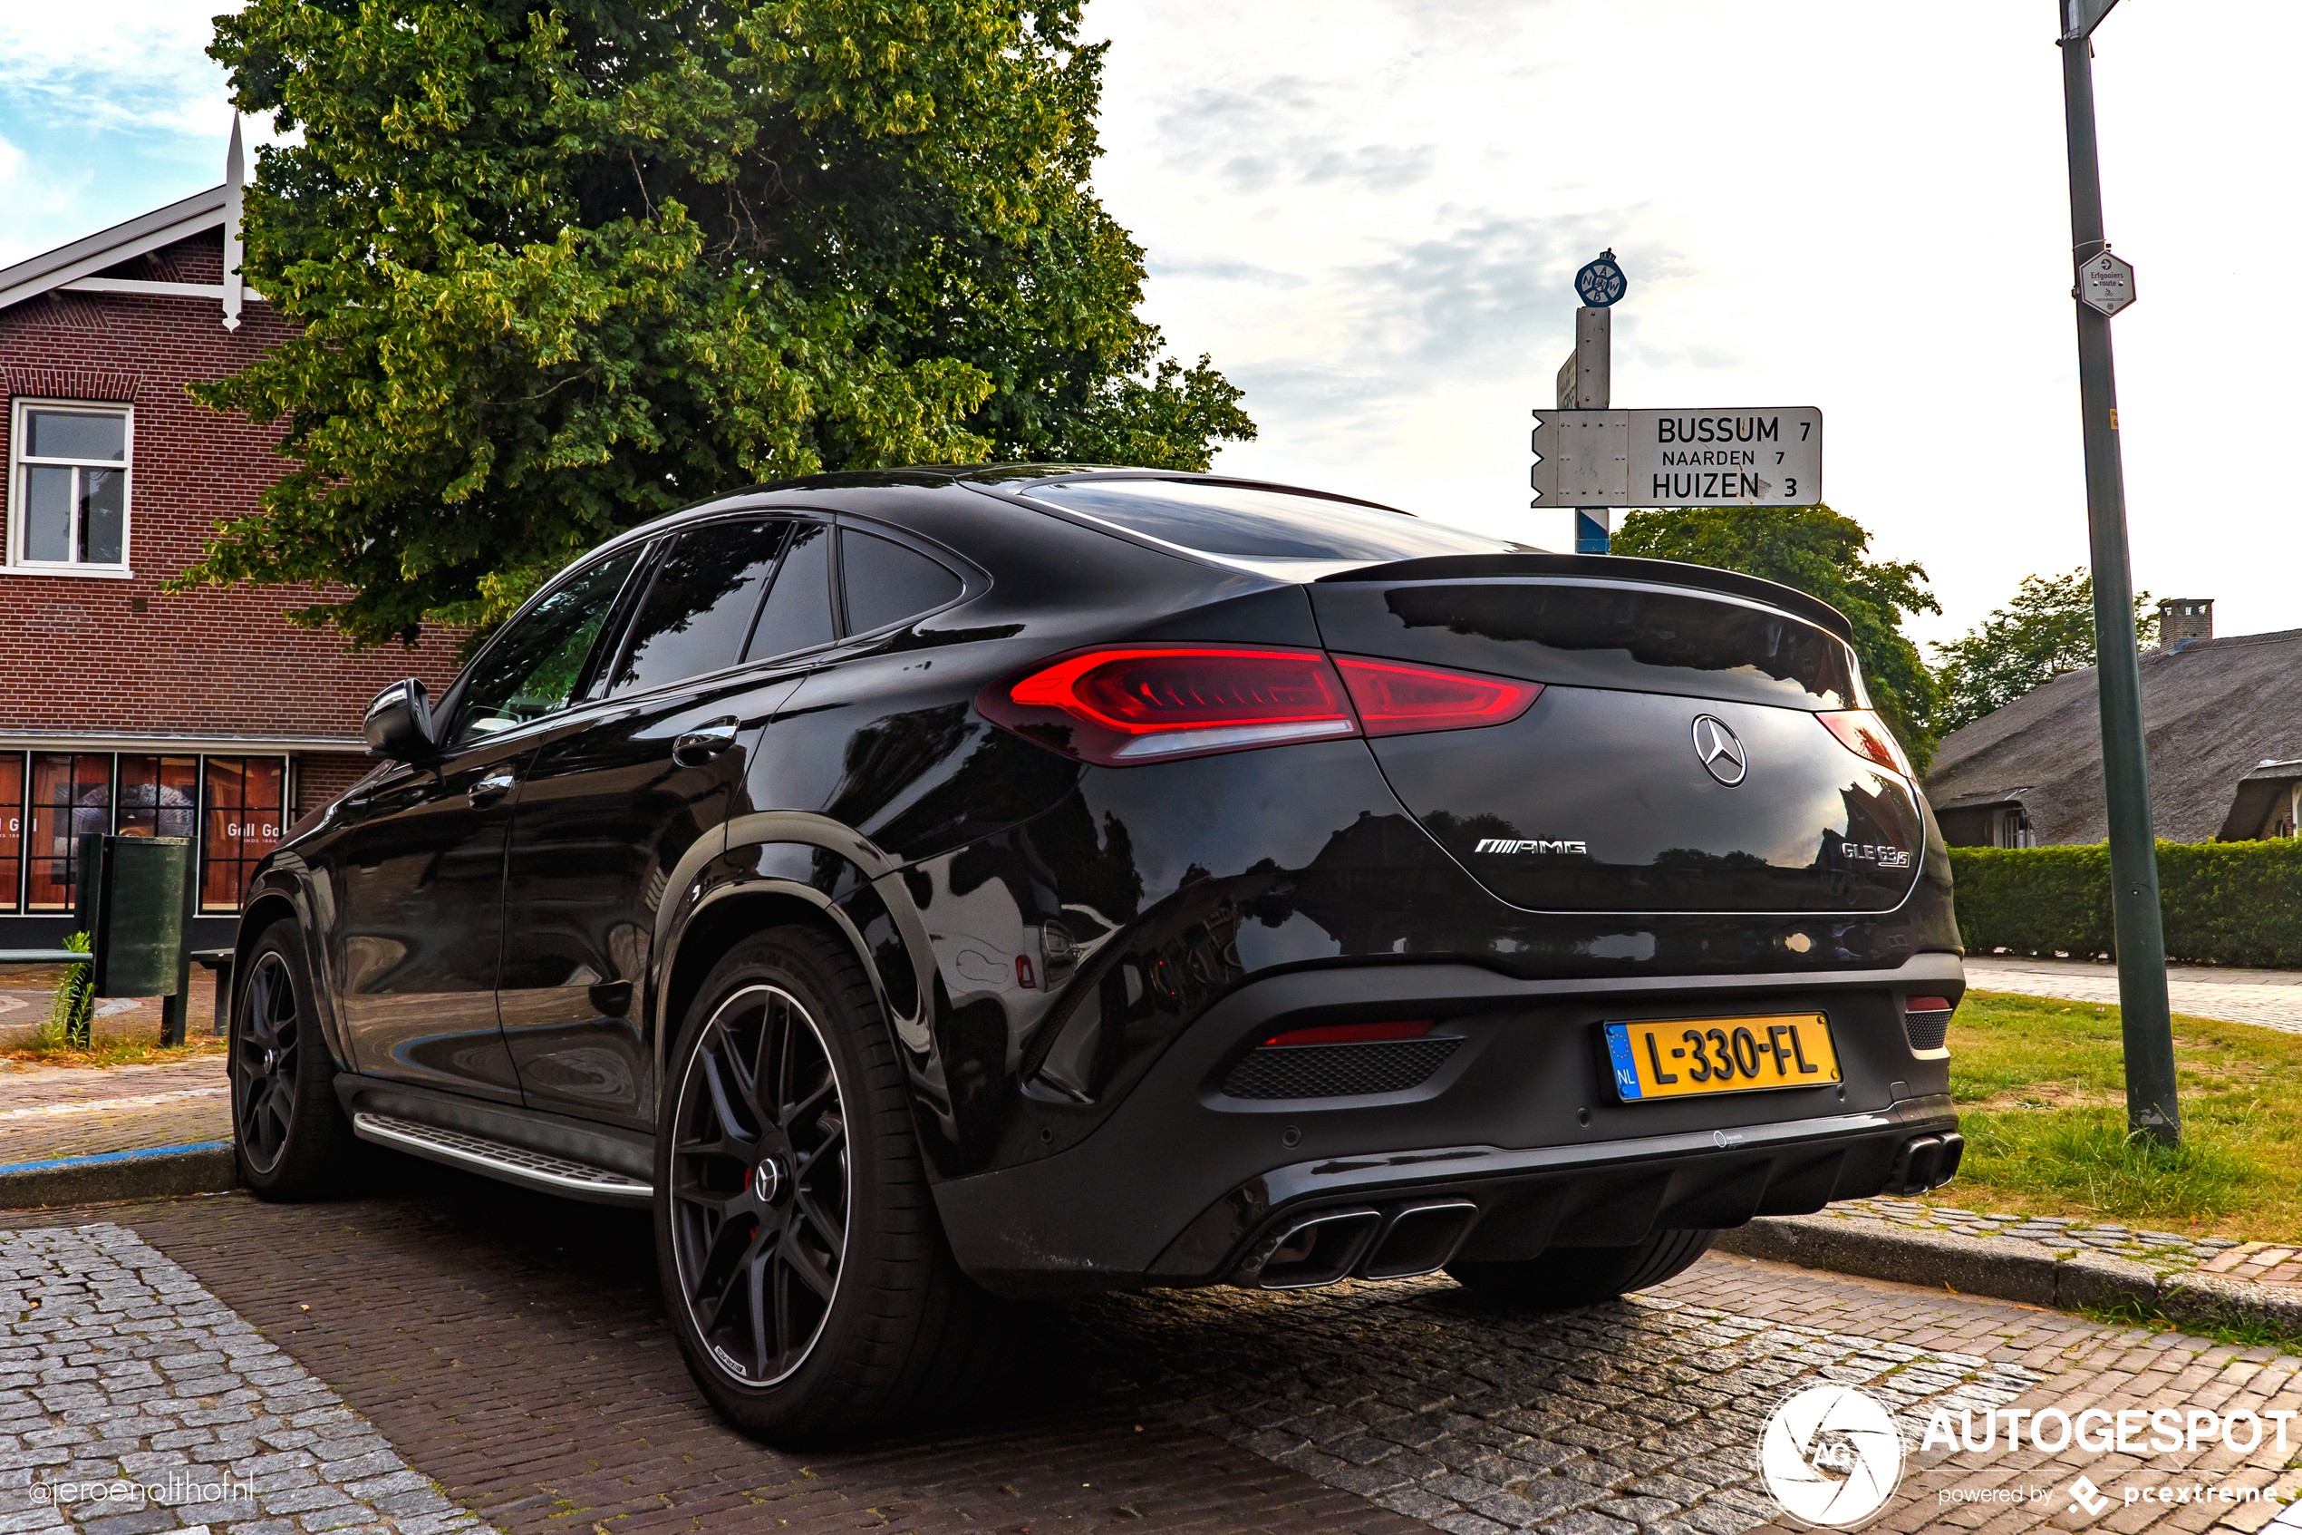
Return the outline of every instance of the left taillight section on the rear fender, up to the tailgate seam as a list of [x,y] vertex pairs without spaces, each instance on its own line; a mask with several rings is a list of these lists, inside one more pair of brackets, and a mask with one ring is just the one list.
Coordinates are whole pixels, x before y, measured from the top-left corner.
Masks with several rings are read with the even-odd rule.
[[1008,730],[1105,766],[1358,734],[1342,679],[1321,651],[1096,649],[1006,688],[994,684],[976,707]]

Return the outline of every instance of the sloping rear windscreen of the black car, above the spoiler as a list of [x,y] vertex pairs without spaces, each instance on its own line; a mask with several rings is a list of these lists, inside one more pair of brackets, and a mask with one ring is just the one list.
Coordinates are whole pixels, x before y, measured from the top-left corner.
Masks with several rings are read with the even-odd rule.
[[1499,555],[1503,539],[1319,495],[1179,479],[1089,479],[1027,495],[1197,555],[1232,559],[1420,559]]

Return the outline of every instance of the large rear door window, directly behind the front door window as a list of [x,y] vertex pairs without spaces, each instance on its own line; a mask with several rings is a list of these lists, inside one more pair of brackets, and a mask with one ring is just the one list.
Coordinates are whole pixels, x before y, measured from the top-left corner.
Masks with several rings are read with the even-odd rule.
[[787,532],[790,522],[744,520],[679,534],[656,562],[605,693],[645,693],[732,667]]

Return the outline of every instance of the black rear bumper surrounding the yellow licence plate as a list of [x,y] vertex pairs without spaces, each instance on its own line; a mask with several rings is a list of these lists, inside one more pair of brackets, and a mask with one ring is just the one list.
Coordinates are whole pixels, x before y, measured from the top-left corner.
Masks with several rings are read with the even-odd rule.
[[[1225,996],[1082,1141],[937,1185],[960,1266],[1006,1293],[1250,1277],[1317,1211],[1386,1222],[1471,1204],[1459,1259],[1630,1245],[1885,1190],[1913,1139],[1957,1130],[1947,1061],[1901,1029],[1908,994],[1964,990],[1957,955],[1830,976],[1510,980],[1459,964],[1319,969]],[[1814,1008],[1842,1089],[1616,1102],[1598,1024]],[[1436,1017],[1462,1043],[1423,1084],[1238,1100],[1222,1082],[1273,1024]]]

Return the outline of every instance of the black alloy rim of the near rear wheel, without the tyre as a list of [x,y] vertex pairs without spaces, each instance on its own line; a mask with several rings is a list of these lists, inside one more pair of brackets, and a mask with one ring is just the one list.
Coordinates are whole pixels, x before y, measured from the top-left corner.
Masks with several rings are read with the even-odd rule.
[[847,1268],[847,1100],[808,1008],[776,985],[721,1001],[672,1125],[688,1321],[732,1381],[776,1385],[808,1360]]

